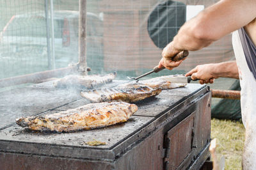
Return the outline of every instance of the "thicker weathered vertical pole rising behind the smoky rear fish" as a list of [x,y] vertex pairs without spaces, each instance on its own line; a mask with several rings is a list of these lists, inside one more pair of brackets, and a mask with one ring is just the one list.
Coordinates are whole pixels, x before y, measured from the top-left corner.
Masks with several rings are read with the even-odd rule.
[[79,63],[78,71],[86,75],[86,0],[79,0]]

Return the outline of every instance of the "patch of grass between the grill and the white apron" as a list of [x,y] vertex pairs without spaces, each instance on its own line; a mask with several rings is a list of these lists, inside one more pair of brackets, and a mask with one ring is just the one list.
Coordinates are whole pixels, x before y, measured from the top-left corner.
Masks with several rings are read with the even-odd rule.
[[241,121],[211,120],[211,138],[217,138],[217,153],[225,157],[225,169],[242,169],[244,126]]

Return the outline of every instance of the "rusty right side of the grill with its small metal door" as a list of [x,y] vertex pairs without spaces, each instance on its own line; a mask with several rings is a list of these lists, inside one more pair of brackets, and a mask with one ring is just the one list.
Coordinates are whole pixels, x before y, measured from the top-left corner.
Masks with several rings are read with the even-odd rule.
[[115,169],[200,169],[209,158],[211,93],[206,91],[166,114],[169,117],[152,134],[116,160]]

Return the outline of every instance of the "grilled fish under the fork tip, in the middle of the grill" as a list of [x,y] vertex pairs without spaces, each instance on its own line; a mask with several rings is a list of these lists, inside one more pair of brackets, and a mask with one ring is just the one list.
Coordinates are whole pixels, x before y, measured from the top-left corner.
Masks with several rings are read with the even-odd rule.
[[81,96],[87,98],[90,102],[137,102],[148,97],[156,96],[161,91],[161,88],[150,88],[144,84],[135,84],[135,86],[131,86],[131,84],[129,84],[129,86],[117,88],[81,91]]

